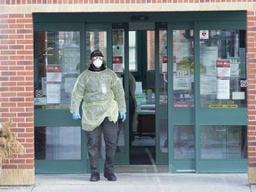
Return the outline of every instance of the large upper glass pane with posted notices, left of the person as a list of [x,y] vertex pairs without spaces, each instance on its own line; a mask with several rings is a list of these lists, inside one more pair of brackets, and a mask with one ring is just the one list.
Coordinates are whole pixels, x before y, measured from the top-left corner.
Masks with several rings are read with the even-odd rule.
[[35,105],[68,106],[80,68],[80,33],[44,31],[35,36]]

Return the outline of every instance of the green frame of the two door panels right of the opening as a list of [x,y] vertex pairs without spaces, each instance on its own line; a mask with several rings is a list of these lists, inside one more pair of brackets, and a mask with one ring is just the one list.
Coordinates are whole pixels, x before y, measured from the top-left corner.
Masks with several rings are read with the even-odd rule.
[[[236,23],[236,24],[235,24]],[[172,31],[175,29],[193,29],[195,42],[195,108],[173,108],[173,68],[168,68],[168,147],[170,172],[247,172],[247,159],[201,159],[200,153],[200,126],[201,125],[247,125],[247,108],[200,108],[200,67],[199,63],[199,31],[203,29],[246,29],[244,21],[195,21],[194,23],[168,23],[168,66],[172,66],[173,44]],[[171,40],[170,40],[171,39]],[[157,53],[156,53],[157,55]],[[158,59],[159,60],[159,59]],[[192,110],[191,110],[192,109]],[[190,111],[190,112],[189,112]],[[184,116],[185,114],[188,116]],[[190,114],[190,115],[189,115]],[[212,118],[214,116],[214,119]],[[218,123],[216,123],[218,119]],[[181,121],[180,121],[181,120]],[[175,160],[173,158],[173,127],[177,124],[195,125],[196,158]],[[218,166],[214,166],[214,164]],[[236,169],[234,169],[236,167]]]

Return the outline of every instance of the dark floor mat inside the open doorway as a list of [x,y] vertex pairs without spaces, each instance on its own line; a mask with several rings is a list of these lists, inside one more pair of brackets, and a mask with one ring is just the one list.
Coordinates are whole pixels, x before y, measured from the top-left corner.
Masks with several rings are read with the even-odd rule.
[[155,146],[132,146],[130,148],[130,164],[155,164]]

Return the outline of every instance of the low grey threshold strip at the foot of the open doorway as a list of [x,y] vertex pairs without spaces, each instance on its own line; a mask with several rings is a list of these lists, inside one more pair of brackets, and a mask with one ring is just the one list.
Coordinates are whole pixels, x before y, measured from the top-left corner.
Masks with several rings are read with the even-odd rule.
[[128,173],[128,172],[169,172],[167,165],[116,165],[116,173]]

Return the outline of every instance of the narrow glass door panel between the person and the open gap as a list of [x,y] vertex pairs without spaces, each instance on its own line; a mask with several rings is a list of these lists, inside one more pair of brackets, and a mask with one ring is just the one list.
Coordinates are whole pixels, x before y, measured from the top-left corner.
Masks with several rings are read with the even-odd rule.
[[[119,77],[120,81],[124,87],[125,101],[126,101],[126,120],[124,123],[118,121],[118,139],[117,139],[117,148],[115,155],[115,164],[116,165],[126,165],[129,164],[129,135],[131,136],[132,132],[132,111],[134,113],[134,102],[129,100],[130,92],[130,73],[129,73],[129,32],[128,27],[123,23],[119,25],[112,25],[111,29],[112,40],[111,40],[111,64],[109,65],[113,68],[113,71]],[[134,66],[135,67],[135,66]],[[124,70],[127,69],[127,70]],[[132,81],[131,84],[135,87],[135,81]],[[133,109],[133,110],[132,110]],[[132,136],[131,136],[132,137]]]

